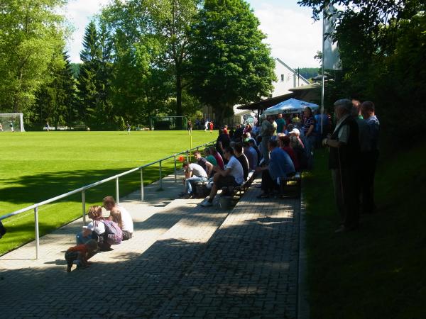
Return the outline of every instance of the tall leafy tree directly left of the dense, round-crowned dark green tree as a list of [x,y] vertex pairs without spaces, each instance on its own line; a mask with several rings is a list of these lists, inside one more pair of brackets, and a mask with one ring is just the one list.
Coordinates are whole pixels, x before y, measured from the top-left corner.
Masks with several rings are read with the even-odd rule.
[[164,39],[153,26],[151,9],[148,1],[116,1],[102,12],[114,52],[114,114],[136,123],[148,123],[154,110],[174,112],[170,108],[176,103],[173,72],[166,62]]

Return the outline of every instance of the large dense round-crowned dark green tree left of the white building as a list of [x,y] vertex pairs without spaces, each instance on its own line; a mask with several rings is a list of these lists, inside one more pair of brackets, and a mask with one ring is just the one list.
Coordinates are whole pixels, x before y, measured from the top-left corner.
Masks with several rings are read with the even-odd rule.
[[243,0],[207,0],[192,27],[192,92],[214,107],[218,123],[237,103],[268,96],[275,79],[259,21]]

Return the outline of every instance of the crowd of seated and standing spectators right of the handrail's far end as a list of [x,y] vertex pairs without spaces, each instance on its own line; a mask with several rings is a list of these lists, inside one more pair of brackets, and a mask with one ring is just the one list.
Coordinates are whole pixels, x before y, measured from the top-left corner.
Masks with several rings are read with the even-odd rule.
[[329,168],[342,221],[337,231],[358,228],[360,213],[376,211],[373,180],[379,122],[369,101],[336,101],[334,116],[332,121],[330,115],[315,114],[307,107],[300,114],[262,114],[253,126],[224,125],[216,145],[204,150],[205,158],[195,152],[197,163],[185,163],[183,195],[193,195],[191,182],[209,179],[212,188],[203,205],[211,206],[219,189],[240,186],[255,171],[262,176],[258,197],[266,198],[277,191],[280,180],[312,169],[315,148],[322,144],[329,147]]

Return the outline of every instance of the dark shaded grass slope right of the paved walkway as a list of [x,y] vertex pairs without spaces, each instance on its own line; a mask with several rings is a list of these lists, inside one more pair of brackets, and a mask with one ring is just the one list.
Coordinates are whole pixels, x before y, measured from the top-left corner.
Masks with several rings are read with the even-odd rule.
[[378,213],[338,233],[327,152],[305,175],[311,318],[425,318],[426,147],[382,155]]

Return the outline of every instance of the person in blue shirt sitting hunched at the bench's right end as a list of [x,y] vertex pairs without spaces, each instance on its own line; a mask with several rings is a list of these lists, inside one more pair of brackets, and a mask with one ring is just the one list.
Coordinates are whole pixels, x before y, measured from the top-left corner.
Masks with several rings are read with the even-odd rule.
[[268,198],[271,191],[278,189],[278,179],[295,175],[295,167],[290,156],[278,147],[276,140],[268,141],[268,149],[271,152],[268,166],[256,168],[256,172],[262,172],[262,194],[257,198]]

